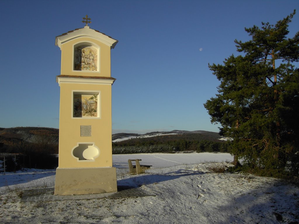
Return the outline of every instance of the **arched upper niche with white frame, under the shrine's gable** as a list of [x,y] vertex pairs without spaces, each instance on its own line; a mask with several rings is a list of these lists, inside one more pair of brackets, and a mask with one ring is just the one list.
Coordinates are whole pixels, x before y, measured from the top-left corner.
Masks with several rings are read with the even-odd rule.
[[100,72],[100,46],[80,42],[73,47],[73,71]]

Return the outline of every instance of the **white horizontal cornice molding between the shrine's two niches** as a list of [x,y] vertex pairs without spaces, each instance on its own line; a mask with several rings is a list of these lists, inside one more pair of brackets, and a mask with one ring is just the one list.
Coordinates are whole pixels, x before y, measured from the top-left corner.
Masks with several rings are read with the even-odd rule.
[[60,77],[56,76],[56,82],[60,86],[61,83],[76,83],[76,84],[101,84],[112,85],[115,79],[92,79],[92,78],[76,78],[76,77]]

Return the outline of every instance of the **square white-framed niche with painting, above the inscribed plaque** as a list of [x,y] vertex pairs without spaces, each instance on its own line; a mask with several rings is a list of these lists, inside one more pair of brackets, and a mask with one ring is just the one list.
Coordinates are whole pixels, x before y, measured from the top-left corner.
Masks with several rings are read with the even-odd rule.
[[72,91],[73,119],[99,119],[101,118],[101,92],[100,91]]

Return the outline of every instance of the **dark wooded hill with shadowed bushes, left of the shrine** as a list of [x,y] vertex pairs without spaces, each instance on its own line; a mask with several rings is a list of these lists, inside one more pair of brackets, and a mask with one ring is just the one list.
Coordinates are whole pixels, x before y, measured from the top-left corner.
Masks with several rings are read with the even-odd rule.
[[59,130],[56,128],[0,128],[0,171],[56,168]]

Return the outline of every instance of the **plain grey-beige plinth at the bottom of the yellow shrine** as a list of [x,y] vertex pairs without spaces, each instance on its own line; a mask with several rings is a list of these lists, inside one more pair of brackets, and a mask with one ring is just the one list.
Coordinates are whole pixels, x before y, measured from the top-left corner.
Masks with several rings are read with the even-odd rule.
[[116,192],[116,168],[57,168],[54,195]]

